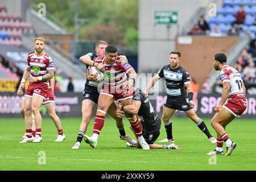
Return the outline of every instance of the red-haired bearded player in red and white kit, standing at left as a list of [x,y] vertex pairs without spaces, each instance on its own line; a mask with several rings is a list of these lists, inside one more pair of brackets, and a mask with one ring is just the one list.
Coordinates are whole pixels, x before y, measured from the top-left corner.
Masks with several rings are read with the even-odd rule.
[[[35,52],[27,57],[27,67],[19,85],[19,92],[23,92],[24,82],[28,79],[30,84],[25,94],[25,124],[27,136],[20,143],[42,141],[42,116],[40,106],[46,100],[49,82],[53,77],[54,63],[50,56],[44,52],[44,38],[34,40]],[[30,76],[31,72],[31,77]],[[29,78],[28,78],[29,77]],[[35,115],[36,135],[32,136],[32,113]]]

